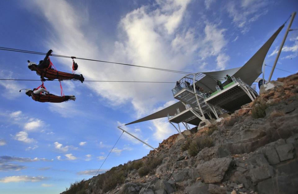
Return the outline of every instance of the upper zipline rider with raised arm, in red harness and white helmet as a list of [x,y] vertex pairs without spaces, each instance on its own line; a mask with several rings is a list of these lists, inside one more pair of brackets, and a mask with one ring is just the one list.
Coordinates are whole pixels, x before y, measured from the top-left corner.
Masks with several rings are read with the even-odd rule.
[[[30,62],[28,60],[28,68],[31,71],[36,71],[37,75],[40,76],[40,78],[45,81],[45,77],[49,80],[54,80],[54,79],[58,79],[58,80],[79,80],[82,83],[84,82],[85,78],[83,77],[82,74],[78,75],[78,74],[71,74],[71,73],[65,73],[65,72],[61,72],[61,71],[57,71],[55,66],[52,64],[49,56],[51,55],[53,51],[49,50],[47,52],[46,57],[39,61],[39,64],[37,65],[34,62]],[[53,68],[54,67],[54,68]],[[75,63],[75,61],[73,60],[73,70],[76,70],[78,68],[78,65]]]

